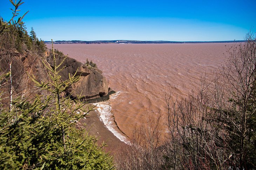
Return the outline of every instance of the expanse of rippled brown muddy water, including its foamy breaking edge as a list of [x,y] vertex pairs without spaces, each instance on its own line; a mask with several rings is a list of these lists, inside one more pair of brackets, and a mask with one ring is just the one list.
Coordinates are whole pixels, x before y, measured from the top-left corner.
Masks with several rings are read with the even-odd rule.
[[88,58],[103,71],[117,93],[109,101],[97,103],[98,111],[107,128],[125,141],[122,132],[131,136],[135,125],[143,122],[146,111],[155,117],[160,111],[164,124],[164,96],[171,91],[172,99],[181,99],[191,90],[199,90],[201,76],[211,76],[225,61],[227,47],[232,45],[54,44],[54,48],[81,62]]

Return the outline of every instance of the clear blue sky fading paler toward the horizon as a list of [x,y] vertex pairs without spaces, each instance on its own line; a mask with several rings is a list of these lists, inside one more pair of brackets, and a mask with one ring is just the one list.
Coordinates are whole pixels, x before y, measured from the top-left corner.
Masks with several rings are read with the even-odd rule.
[[[43,40],[243,40],[256,0],[23,0],[24,22]],[[0,0],[0,16],[11,16]]]

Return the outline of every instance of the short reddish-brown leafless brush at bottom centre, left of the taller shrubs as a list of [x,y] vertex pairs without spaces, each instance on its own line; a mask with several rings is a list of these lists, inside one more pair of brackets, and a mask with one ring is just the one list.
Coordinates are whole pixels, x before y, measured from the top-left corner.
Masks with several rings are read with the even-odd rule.
[[157,118],[145,114],[146,121],[135,128],[130,145],[120,148],[115,155],[117,169],[156,170],[161,168],[161,114]]

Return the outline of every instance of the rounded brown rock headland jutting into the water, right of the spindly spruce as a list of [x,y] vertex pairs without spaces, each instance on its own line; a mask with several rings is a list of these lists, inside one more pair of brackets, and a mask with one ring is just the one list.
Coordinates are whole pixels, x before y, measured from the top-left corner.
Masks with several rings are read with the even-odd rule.
[[[64,59],[64,55],[61,53],[55,53],[56,63],[60,64]],[[52,54],[47,53],[47,60],[50,65],[53,65]],[[97,102],[107,100],[109,98],[109,92],[106,78],[102,75],[102,71],[98,68],[88,68],[85,64],[82,64],[75,59],[67,57],[62,63],[61,67],[64,67],[60,71],[61,79],[63,81],[68,79],[68,75],[73,76],[75,73],[80,75],[80,80],[68,88],[66,94],[76,98],[77,96],[84,96],[83,101]],[[77,71],[77,72],[76,72]]]

